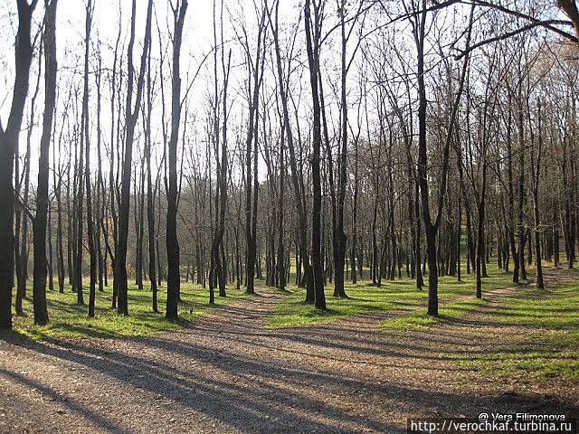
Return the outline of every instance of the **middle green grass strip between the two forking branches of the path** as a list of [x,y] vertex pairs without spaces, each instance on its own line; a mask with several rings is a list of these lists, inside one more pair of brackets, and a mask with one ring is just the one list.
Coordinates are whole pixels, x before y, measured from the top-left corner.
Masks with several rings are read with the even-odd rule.
[[[462,269],[466,269],[466,266],[463,266]],[[367,273],[366,270],[366,276]],[[483,291],[485,288],[507,288],[512,285],[510,275],[498,270],[496,265],[489,264],[488,273],[489,278],[484,279]],[[425,303],[428,299],[428,288],[418,290],[414,286],[412,278],[406,278],[405,273],[403,276],[402,279],[383,280],[380,288],[373,286],[369,281],[362,281],[356,285],[346,284],[346,294],[349,297],[346,299],[332,297],[334,286],[328,284],[326,287],[327,310],[325,311],[303,303],[305,289],[292,288],[293,293],[278,303],[272,315],[267,318],[266,324],[272,328],[279,328],[290,325],[325,323],[344,316],[394,310]],[[425,276],[425,282],[427,279]],[[475,282],[472,275],[463,274],[461,282],[451,276],[439,279],[439,298],[466,295],[474,297],[474,294]],[[464,306],[455,309],[460,308],[463,309]],[[426,316],[425,310],[422,315],[414,312],[409,315],[414,317],[416,324],[428,320],[428,318],[423,318]]]

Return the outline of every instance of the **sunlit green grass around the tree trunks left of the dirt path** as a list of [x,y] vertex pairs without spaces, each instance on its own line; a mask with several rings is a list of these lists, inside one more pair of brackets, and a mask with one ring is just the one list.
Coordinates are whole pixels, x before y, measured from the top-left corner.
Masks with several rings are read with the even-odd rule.
[[152,309],[152,292],[148,283],[139,290],[136,285],[128,285],[129,316],[117,315],[111,308],[112,288],[105,292],[97,290],[95,300],[95,317],[88,317],[89,293],[84,288],[84,301],[87,305],[76,303],[77,294],[71,292],[70,286],[65,286],[64,294],[47,291],[47,304],[50,322],[48,325],[33,324],[32,285],[29,286],[24,299],[24,316],[14,315],[14,331],[34,339],[45,337],[126,337],[151,335],[153,333],[175,330],[189,325],[195,318],[211,312],[215,307],[223,306],[233,299],[244,297],[240,292],[228,288],[228,297],[215,297],[216,303],[208,303],[208,289],[192,283],[181,283],[181,299],[179,303],[179,319],[168,321],[164,312],[166,307],[166,286],[159,288],[158,309]]

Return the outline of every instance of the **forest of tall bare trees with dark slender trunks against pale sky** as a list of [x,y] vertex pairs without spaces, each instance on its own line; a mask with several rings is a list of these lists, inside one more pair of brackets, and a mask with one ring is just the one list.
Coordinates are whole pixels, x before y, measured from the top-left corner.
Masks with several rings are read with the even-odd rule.
[[31,278],[46,325],[47,291],[130,316],[132,281],[175,320],[184,280],[326,309],[412,278],[438,316],[441,276],[574,268],[574,1],[214,0],[203,35],[129,3],[0,4],[1,328]]

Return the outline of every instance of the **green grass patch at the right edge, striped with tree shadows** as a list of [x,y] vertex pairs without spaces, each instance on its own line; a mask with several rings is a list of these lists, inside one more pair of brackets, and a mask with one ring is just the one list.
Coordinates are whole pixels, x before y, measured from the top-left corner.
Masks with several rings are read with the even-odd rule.
[[503,344],[460,366],[499,377],[529,382],[558,377],[579,380],[579,279],[546,290],[529,289],[501,300],[489,313],[499,325],[524,327],[503,335]]

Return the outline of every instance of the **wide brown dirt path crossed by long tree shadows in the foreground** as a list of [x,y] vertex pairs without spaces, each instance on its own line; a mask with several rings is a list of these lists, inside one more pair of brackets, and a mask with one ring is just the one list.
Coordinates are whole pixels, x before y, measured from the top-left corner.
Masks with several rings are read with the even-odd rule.
[[577,384],[536,390],[457,368],[457,355],[501,333],[482,332],[482,312],[412,334],[378,332],[408,309],[265,329],[279,297],[242,299],[164,335],[0,341],[0,431],[405,432],[410,416],[569,410],[576,400]]

